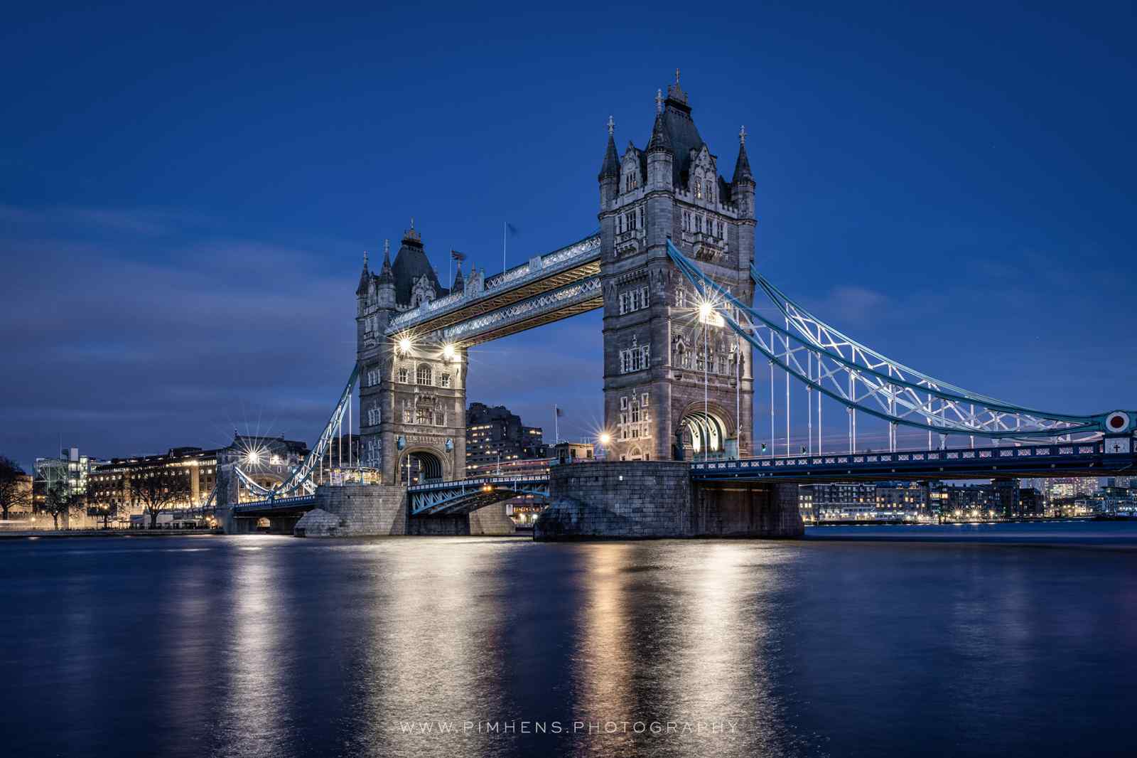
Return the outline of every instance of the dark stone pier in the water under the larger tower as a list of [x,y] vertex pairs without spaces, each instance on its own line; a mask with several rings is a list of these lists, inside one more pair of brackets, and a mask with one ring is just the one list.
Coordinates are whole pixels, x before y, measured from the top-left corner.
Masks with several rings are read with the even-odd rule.
[[797,485],[692,483],[682,461],[554,465],[533,538],[800,537]]

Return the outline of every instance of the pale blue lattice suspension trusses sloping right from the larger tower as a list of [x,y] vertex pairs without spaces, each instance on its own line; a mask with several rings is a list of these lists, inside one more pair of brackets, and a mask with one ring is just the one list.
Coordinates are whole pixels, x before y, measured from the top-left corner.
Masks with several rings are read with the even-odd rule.
[[940,435],[1032,443],[1096,439],[1106,430],[1106,413],[1038,411],[910,369],[818,319],[752,266],[752,279],[783,314],[786,326],[775,323],[705,274],[670,239],[667,254],[704,300],[771,364],[810,389],[838,401],[850,413],[868,413],[891,425]]

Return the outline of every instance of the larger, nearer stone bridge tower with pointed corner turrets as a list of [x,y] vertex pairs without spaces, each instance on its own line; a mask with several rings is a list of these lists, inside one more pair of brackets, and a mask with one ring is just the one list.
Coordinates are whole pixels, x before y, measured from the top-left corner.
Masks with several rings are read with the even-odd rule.
[[666,98],[662,91],[656,94],[655,123],[644,149],[629,142],[620,156],[608,120],[598,180],[609,458],[721,454],[736,436],[739,452],[752,453],[749,346],[725,326],[700,322],[698,294],[666,250],[670,238],[716,282],[753,303],[755,183],[745,130],[728,182],[699,137],[677,71]]

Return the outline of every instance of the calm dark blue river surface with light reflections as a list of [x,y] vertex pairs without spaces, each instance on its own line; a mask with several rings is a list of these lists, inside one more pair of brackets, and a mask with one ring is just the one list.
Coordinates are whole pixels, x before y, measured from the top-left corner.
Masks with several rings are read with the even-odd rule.
[[1135,568],[1137,524],[6,539],[0,752],[1132,756]]

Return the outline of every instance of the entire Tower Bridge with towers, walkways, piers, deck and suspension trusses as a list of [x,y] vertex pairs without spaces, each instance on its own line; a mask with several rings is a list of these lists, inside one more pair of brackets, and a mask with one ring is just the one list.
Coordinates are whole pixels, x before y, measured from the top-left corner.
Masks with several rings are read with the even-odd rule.
[[[218,504],[236,520],[300,519],[307,534],[471,533],[495,528],[490,513],[504,522],[503,500],[531,494],[551,503],[537,525],[548,538],[795,536],[799,483],[1098,476],[1137,462],[1137,413],[1041,411],[966,390],[856,341],[778,289],[754,261],[745,129],[727,180],[678,76],[657,92],[642,147],[617,151],[609,118],[597,181],[598,231],[497,274],[459,262],[443,286],[413,221],[393,261],[388,244],[377,272],[365,256],[350,378],[310,460],[274,487],[230,462]],[[755,307],[756,294],[777,318]],[[467,351],[601,308],[606,460],[465,478]],[[349,453],[341,477],[355,484],[317,488],[316,462],[345,421],[352,427],[357,382],[359,460]],[[756,382],[770,392],[769,447]],[[799,454],[791,386],[808,418]],[[775,451],[781,397],[786,450]],[[836,423],[848,444],[822,453],[827,404],[844,410]],[[887,451],[857,444],[858,419],[887,427]],[[902,428],[927,432],[927,447],[898,450]],[[363,484],[363,471],[380,484]],[[260,499],[239,503],[240,483]]]

